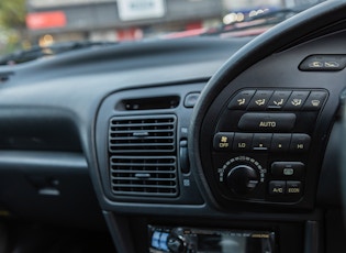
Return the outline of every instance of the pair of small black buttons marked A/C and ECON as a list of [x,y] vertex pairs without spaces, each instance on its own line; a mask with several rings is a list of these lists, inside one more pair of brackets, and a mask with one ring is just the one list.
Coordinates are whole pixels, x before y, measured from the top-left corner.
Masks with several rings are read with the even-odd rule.
[[301,195],[302,183],[292,180],[269,182],[269,195]]

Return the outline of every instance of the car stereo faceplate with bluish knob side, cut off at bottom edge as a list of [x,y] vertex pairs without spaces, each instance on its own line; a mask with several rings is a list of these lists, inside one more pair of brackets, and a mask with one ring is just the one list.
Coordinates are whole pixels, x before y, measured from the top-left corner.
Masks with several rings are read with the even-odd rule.
[[150,253],[274,253],[275,232],[148,226]]

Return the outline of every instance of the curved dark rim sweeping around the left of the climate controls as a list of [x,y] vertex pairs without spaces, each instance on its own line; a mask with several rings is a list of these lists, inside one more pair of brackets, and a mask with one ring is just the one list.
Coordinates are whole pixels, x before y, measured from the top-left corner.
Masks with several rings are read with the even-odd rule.
[[192,173],[194,173],[198,186],[210,206],[219,207],[204,176],[200,153],[201,128],[210,106],[217,95],[244,70],[267,56],[299,44],[306,36],[344,20],[345,12],[345,1],[326,1],[308,9],[250,41],[232,55],[209,80],[191,118],[189,155],[193,168]]

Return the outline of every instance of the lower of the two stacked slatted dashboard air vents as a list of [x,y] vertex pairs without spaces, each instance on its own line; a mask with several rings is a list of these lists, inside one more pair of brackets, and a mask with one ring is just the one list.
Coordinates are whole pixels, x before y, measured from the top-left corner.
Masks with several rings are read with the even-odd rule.
[[175,156],[111,157],[115,195],[174,197],[178,194]]

